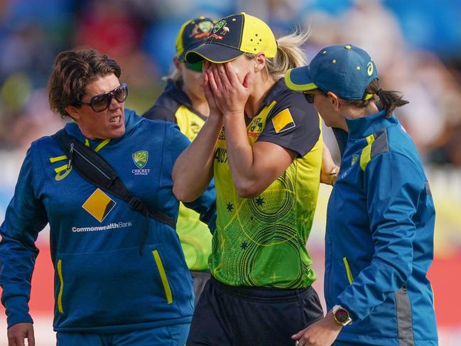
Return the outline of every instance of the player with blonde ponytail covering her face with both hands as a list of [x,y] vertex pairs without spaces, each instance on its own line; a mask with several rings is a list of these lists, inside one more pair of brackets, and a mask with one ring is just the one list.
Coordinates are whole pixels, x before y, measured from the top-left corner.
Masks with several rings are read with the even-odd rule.
[[[217,193],[212,279],[188,346],[293,345],[293,333],[322,318],[305,248],[320,182],[321,123],[282,78],[303,65],[298,46],[305,40],[296,33],[276,40],[266,23],[239,13],[218,21],[185,56],[205,60],[210,117],[176,161],[173,192],[194,200],[214,176]],[[333,167],[325,160],[325,172]]]

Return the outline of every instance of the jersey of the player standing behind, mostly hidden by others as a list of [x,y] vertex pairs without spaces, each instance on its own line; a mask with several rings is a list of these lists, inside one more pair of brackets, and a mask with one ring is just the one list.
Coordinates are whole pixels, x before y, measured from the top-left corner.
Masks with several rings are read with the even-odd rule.
[[[202,129],[205,116],[192,108],[192,102],[178,83],[168,80],[163,93],[156,104],[143,115],[147,119],[161,119],[178,124],[181,132],[193,141]],[[193,271],[208,269],[208,256],[211,254],[212,235],[205,223],[200,221],[200,215],[194,210],[179,206],[178,223],[176,225],[185,261]]]

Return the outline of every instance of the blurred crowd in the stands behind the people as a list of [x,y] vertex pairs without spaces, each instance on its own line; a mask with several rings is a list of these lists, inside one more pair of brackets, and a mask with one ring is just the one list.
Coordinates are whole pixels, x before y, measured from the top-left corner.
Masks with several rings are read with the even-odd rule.
[[[46,82],[61,50],[91,46],[115,58],[142,114],[163,88],[187,19],[246,11],[283,35],[310,31],[310,58],[350,43],[376,60],[384,89],[410,101],[398,117],[426,162],[461,167],[461,3],[429,0],[3,0],[0,1],[0,149],[25,149],[62,119]],[[197,87],[200,87],[197,85]]]

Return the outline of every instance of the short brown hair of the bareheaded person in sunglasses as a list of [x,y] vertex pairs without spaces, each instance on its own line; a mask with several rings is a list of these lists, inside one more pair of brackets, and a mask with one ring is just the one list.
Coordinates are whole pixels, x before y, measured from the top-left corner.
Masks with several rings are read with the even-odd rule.
[[67,50],[59,53],[48,80],[50,108],[61,117],[70,117],[65,108],[81,101],[88,84],[111,73],[119,78],[120,65],[97,50]]

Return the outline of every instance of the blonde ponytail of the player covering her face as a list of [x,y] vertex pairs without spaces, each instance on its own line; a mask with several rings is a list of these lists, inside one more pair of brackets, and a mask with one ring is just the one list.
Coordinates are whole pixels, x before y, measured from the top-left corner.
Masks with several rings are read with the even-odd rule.
[[[307,65],[307,58],[300,46],[308,40],[309,36],[309,31],[297,30],[278,38],[276,56],[266,58],[266,75],[272,77],[273,80],[279,80],[287,70]],[[245,55],[254,58],[253,54],[246,53]]]

